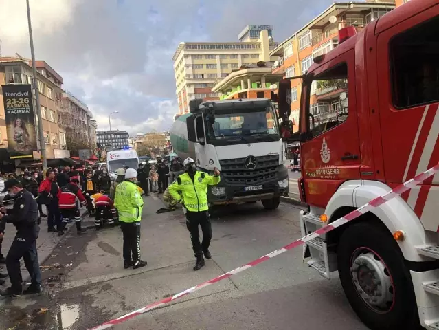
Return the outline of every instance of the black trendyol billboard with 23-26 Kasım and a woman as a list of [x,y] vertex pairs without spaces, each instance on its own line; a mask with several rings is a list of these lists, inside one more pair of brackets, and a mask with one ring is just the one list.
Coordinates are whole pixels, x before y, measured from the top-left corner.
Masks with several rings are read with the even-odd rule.
[[10,158],[32,158],[36,130],[30,85],[3,85],[3,103]]

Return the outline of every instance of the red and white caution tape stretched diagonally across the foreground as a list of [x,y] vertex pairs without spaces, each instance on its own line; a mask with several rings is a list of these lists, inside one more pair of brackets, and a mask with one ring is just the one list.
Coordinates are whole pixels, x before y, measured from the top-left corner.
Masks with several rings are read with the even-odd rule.
[[400,186],[397,186],[396,188],[392,189],[390,192],[387,192],[385,195],[376,197],[375,199],[372,199],[369,203],[365,204],[364,206],[361,206],[361,208],[357,208],[357,210],[354,210],[350,212],[349,214],[346,214],[344,217],[341,217],[340,219],[337,219],[333,223],[330,223],[330,225],[326,225],[319,230],[316,230],[315,232],[312,232],[311,234],[308,234],[302,239],[297,239],[297,241],[293,241],[293,243],[290,243],[289,245],[285,245],[283,248],[280,248],[279,250],[275,250],[269,254],[266,254],[264,256],[261,256],[260,258],[251,261],[251,263],[247,263],[246,265],[242,265],[241,267],[235,268],[234,270],[231,270],[230,272],[227,272],[221,276],[218,276],[216,278],[212,278],[209,281],[206,281],[204,283],[201,283],[199,285],[195,285],[194,287],[190,287],[189,289],[186,289],[183,292],[180,292],[179,294],[175,294],[174,296],[164,298],[162,300],[158,300],[155,303],[152,303],[150,305],[147,305],[145,307],[142,307],[141,309],[137,309],[137,311],[132,311],[131,313],[125,314],[124,316],[120,316],[119,318],[115,318],[114,320],[107,321],[105,323],[102,323],[102,325],[98,325],[97,327],[93,327],[89,330],[102,330],[109,327],[113,327],[113,325],[117,325],[119,323],[122,323],[126,320],[129,320],[131,318],[134,318],[135,316],[138,316],[139,314],[146,313],[146,311],[150,311],[152,309],[156,309],[158,307],[162,307],[166,305],[167,303],[170,303],[172,300],[176,300],[178,298],[181,298],[183,296],[187,296],[188,294],[192,294],[192,292],[196,292],[199,289],[203,289],[203,287],[207,287],[208,285],[214,284],[216,282],[219,282],[225,278],[229,278],[230,276],[234,274],[238,274],[240,272],[243,272],[244,270],[247,270],[250,267],[256,266],[260,263],[263,263],[264,261],[267,261],[274,256],[278,256],[279,254],[282,254],[288,250],[291,250],[293,248],[296,248],[297,246],[303,245],[304,243],[311,241],[311,239],[315,239],[317,236],[321,236],[323,234],[326,234],[327,232],[330,232],[331,230],[334,230],[335,228],[344,225],[344,223],[347,223],[348,221],[351,221],[357,217],[359,217],[361,214],[364,214],[366,212],[369,212],[373,208],[377,208],[381,204],[385,203],[386,201],[390,201],[390,199],[401,195],[403,192],[406,192],[407,190],[412,189],[413,187],[417,186],[421,182],[423,182],[425,179],[431,177],[431,175],[434,175],[439,172],[439,164],[436,166],[430,168],[429,170],[426,170],[424,173],[421,173],[420,175],[417,175],[413,179],[405,182],[404,184],[401,184]]

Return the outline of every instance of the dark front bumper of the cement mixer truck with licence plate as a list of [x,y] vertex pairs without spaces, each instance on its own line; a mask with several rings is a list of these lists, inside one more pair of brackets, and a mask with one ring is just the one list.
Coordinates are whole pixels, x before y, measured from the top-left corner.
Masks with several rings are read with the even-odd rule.
[[[260,184],[252,186],[262,186],[262,189],[245,190],[247,186],[241,185],[227,185],[222,180],[217,186],[209,186],[207,188],[207,199],[211,205],[227,205],[234,203],[243,203],[246,201],[260,201],[262,199],[272,199],[288,195],[289,185],[280,187],[279,181],[288,181],[288,171],[285,166],[281,165],[278,168],[278,175],[275,179],[264,181]],[[225,193],[221,195],[214,195],[212,188],[225,188]]]

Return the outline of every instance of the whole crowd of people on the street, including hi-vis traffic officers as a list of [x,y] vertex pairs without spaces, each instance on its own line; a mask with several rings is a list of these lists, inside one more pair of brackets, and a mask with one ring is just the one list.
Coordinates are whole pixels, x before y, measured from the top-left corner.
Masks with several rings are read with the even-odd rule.
[[[181,170],[185,170],[182,172]],[[144,267],[140,259],[140,221],[144,201],[142,195],[152,192],[164,193],[164,201],[170,208],[181,203],[187,217],[186,225],[191,234],[192,249],[196,256],[194,270],[205,265],[203,256],[211,258],[208,250],[212,237],[207,204],[207,185],[220,181],[219,171],[214,175],[196,170],[193,159],[185,159],[184,166],[174,159],[168,166],[161,161],[156,166],[140,164],[139,168],[119,168],[112,182],[106,169],[90,166],[48,168],[45,177],[39,170],[24,170],[19,175],[9,174],[3,192],[14,200],[12,209],[0,208],[0,263],[5,263],[8,274],[0,272],[0,285],[9,276],[11,287],[0,290],[2,296],[19,296],[42,292],[41,270],[38,263],[36,239],[40,232],[41,218],[47,217],[47,231],[65,232],[69,221],[76,224],[77,234],[84,232],[80,206],[87,206],[89,216],[95,217],[95,229],[105,224],[120,225],[123,236],[124,268]],[[168,186],[170,175],[172,184]],[[149,184],[148,184],[149,181]],[[194,184],[188,184],[188,182]],[[157,188],[154,182],[158,183]],[[41,206],[45,205],[47,214]],[[16,236],[7,256],[1,254],[1,241],[6,223],[16,227]],[[203,241],[199,242],[199,226]],[[23,291],[20,260],[24,259],[31,284]]]

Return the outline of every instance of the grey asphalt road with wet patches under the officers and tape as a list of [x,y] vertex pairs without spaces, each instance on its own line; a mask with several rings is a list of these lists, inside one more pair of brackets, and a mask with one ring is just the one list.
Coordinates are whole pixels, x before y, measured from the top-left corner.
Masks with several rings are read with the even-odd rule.
[[[141,245],[147,267],[122,268],[119,228],[90,229],[80,238],[71,230],[46,261],[64,266],[43,272],[46,294],[8,301],[0,329],[89,329],[300,237],[300,209],[290,204],[274,211],[261,203],[227,206],[212,215],[213,258],[194,272],[185,218],[181,210],[155,214],[162,206],[156,195],[146,197]],[[302,262],[299,248],[113,329],[367,328],[350,309],[337,274],[330,281],[321,278]]]

